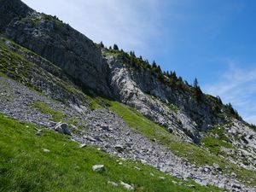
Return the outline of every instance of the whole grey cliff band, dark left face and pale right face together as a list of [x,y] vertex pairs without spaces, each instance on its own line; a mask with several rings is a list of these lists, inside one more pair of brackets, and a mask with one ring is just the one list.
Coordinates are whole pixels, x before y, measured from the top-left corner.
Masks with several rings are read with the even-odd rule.
[[[9,23],[0,20],[4,35],[61,67],[90,93],[128,104],[155,123],[196,143],[200,140],[200,131],[224,121],[223,116],[218,116],[224,109],[218,99],[200,92],[197,96],[198,93],[183,82],[185,89],[160,82],[157,75],[147,70],[128,70],[123,63],[130,55],[117,52],[117,55],[123,54],[121,58],[102,56],[101,49],[90,39],[56,17],[39,14],[22,3],[10,9],[9,4],[2,0],[1,9],[20,15],[10,17]],[[201,101],[197,101],[198,97],[202,97]]]

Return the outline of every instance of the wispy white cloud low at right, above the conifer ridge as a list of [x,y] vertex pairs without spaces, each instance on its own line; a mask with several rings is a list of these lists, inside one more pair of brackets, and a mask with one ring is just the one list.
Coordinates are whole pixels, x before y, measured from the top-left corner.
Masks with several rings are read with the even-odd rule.
[[245,70],[234,61],[228,64],[229,70],[220,76],[218,83],[207,84],[203,89],[220,96],[225,103],[231,102],[243,119],[256,124],[256,67]]

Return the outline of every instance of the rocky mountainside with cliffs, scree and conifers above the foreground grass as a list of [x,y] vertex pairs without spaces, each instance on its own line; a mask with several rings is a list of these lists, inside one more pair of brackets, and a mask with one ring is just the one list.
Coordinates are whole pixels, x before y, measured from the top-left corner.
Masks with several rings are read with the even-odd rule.
[[[0,0],[0,16],[0,125],[4,131],[10,130],[4,125],[18,124],[20,128],[24,122],[32,123],[28,126],[43,126],[67,133],[85,151],[90,151],[90,147],[84,149],[85,145],[98,146],[104,155],[153,166],[168,181],[172,177],[183,180],[174,179],[169,186],[165,179],[156,179],[152,182],[158,188],[152,188],[143,181],[141,172],[136,180],[126,178],[136,191],[164,191],[159,187],[163,182],[166,191],[175,186],[180,191],[215,190],[212,186],[255,191],[255,127],[243,121],[230,104],[202,93],[196,82],[192,86],[175,73],[162,72],[155,63],[149,64],[132,51],[126,53],[116,45],[108,49],[95,44],[57,17],[38,13],[19,0]],[[21,125],[4,115],[17,119]],[[26,127],[23,129],[22,134],[27,134]],[[38,130],[36,133],[42,138],[53,134]],[[46,142],[47,137],[44,139]],[[2,144],[11,145],[8,139]],[[0,149],[1,154],[8,154]],[[15,159],[19,153],[14,151],[5,158]],[[26,157],[19,155],[21,159]],[[50,158],[49,161],[54,163]],[[21,190],[18,184],[14,189],[6,189],[11,182],[3,178],[10,175],[11,168],[5,164],[0,164],[0,173],[4,170],[0,189]],[[120,161],[119,166],[122,164]],[[108,175],[106,172],[103,176]],[[124,184],[118,184],[118,188],[119,185]],[[68,187],[64,190],[70,191]]]

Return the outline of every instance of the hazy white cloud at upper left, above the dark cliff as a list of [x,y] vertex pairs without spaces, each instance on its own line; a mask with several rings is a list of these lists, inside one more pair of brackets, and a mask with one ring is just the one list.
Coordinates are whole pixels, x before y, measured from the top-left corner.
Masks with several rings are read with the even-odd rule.
[[33,9],[61,20],[84,33],[96,43],[118,44],[142,52],[148,39],[157,36],[157,0],[23,0]]

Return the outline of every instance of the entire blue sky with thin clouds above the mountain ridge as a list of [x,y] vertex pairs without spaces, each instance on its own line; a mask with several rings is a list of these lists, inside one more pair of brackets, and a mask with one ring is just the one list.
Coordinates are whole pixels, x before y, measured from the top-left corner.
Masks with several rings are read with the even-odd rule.
[[135,50],[256,124],[256,1],[24,0],[96,43]]

